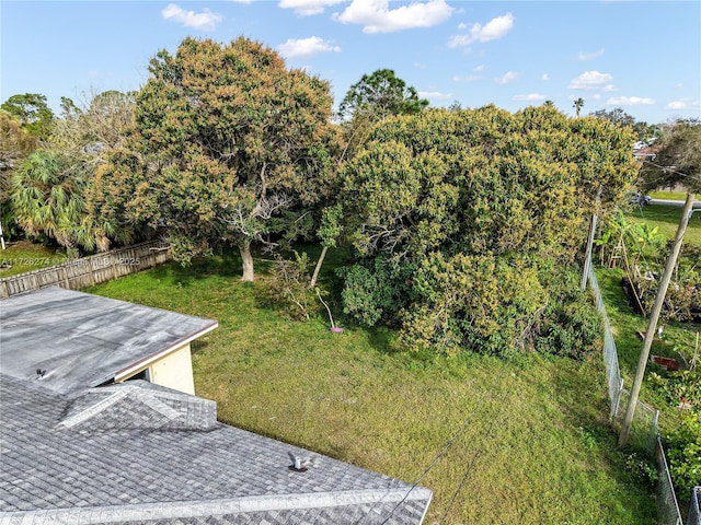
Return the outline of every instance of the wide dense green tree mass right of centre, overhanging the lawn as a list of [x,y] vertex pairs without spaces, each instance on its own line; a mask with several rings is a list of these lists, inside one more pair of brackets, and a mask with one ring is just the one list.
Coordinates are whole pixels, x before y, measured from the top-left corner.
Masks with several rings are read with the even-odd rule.
[[587,213],[634,176],[631,141],[550,106],[388,118],[342,174],[345,311],[418,347],[532,342],[556,317]]

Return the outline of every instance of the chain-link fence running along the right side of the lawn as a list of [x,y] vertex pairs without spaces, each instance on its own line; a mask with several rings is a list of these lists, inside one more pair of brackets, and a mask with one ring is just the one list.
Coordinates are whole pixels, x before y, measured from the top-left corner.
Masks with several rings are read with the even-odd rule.
[[[606,365],[606,376],[609,385],[609,399],[611,401],[611,424],[619,430],[621,420],[625,417],[625,409],[630,393],[623,388],[623,378],[618,362],[618,351],[611,325],[606,314],[606,306],[601,296],[599,283],[594,275],[591,264],[587,265],[587,279],[596,296],[596,305],[604,319],[604,364]],[[677,495],[671,485],[671,476],[665,457],[665,450],[662,445],[659,428],[657,425],[659,411],[655,408],[637,401],[635,415],[631,424],[629,443],[640,450],[646,450],[655,458],[657,465],[657,515],[658,523],[663,525],[683,525]],[[697,491],[699,489],[697,488]],[[698,500],[698,498],[697,498]],[[698,503],[698,501],[697,501]],[[691,515],[687,525],[701,525],[691,521]]]

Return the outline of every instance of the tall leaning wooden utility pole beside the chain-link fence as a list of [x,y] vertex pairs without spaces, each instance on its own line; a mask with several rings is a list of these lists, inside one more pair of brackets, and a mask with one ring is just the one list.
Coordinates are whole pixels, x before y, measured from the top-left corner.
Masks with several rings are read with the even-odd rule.
[[631,432],[631,424],[633,422],[633,416],[635,415],[635,408],[637,407],[637,397],[640,396],[640,387],[643,384],[643,376],[645,375],[645,368],[647,365],[647,357],[650,355],[650,348],[653,345],[655,338],[655,330],[657,329],[657,319],[662,312],[662,306],[667,295],[667,288],[669,288],[669,281],[677,264],[677,257],[679,257],[679,250],[681,249],[681,242],[683,241],[683,234],[687,231],[687,224],[691,218],[691,208],[693,207],[693,194],[687,194],[687,201],[681,212],[681,220],[679,221],[679,228],[677,229],[677,235],[671,246],[671,254],[667,259],[665,266],[665,272],[659,281],[659,288],[657,288],[657,295],[655,296],[655,304],[653,311],[650,314],[650,323],[647,324],[647,332],[645,334],[645,341],[643,342],[643,350],[640,353],[637,360],[637,370],[635,371],[635,381],[633,382],[633,388],[631,389],[631,397],[628,401],[628,409],[625,410],[625,419],[621,425],[621,433],[618,438],[618,445],[625,446],[628,444],[628,438]]

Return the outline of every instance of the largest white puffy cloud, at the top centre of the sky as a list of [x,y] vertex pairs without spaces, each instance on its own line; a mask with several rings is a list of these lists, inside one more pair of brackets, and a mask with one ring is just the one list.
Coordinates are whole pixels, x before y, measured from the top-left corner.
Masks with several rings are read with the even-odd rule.
[[343,13],[334,14],[334,20],[361,24],[364,33],[392,33],[440,24],[452,11],[446,0],[412,2],[397,9],[390,9],[389,0],[353,0]]

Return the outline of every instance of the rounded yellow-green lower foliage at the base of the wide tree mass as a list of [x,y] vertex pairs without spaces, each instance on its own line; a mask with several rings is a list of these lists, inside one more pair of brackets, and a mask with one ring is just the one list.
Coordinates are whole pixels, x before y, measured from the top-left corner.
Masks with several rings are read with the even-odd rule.
[[524,258],[492,254],[446,260],[433,254],[413,278],[415,300],[401,314],[403,340],[416,350],[464,348],[508,355],[524,349],[547,292]]

